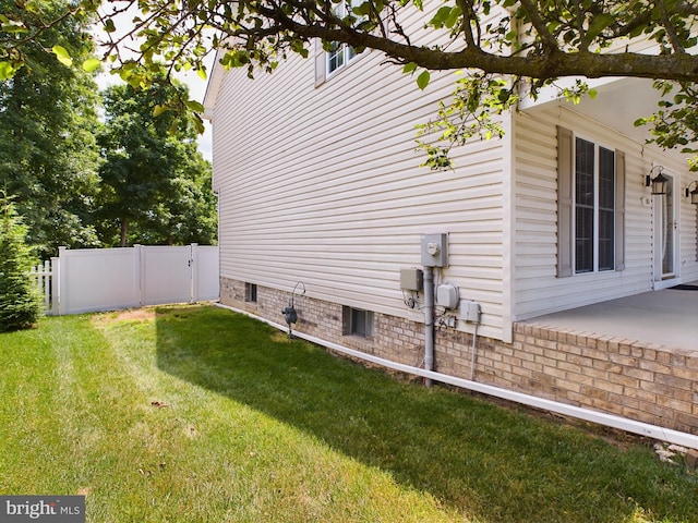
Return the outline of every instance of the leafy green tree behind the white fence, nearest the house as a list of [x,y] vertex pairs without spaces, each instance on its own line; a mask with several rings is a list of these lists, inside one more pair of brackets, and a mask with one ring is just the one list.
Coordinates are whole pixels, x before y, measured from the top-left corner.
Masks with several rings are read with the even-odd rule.
[[167,109],[168,100],[188,99],[189,93],[164,80],[105,92],[96,215],[106,245],[215,241],[210,165],[196,148],[191,119]]

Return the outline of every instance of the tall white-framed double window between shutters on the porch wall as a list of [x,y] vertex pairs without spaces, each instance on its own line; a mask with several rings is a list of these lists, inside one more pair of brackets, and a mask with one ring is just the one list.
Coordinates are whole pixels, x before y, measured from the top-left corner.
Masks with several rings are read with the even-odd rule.
[[615,268],[615,151],[575,141],[575,272]]

